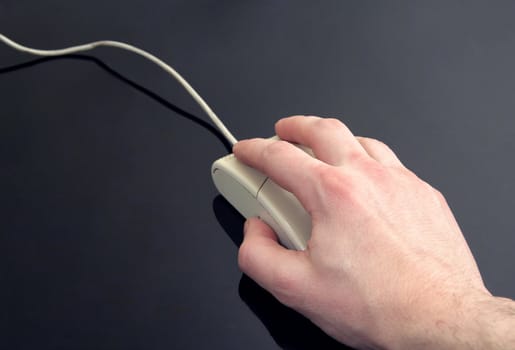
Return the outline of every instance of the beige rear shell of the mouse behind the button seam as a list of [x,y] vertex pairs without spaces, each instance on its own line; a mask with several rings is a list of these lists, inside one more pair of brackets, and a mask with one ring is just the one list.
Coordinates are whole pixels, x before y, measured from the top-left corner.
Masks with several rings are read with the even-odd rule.
[[267,179],[258,193],[258,201],[283,228],[293,248],[306,249],[307,241],[311,237],[311,217],[298,199],[271,179]]

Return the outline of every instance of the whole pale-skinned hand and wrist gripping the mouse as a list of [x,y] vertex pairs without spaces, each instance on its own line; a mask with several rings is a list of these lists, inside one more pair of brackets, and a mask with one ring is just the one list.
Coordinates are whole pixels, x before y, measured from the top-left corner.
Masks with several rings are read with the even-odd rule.
[[515,349],[515,302],[486,289],[440,192],[336,119],[294,116],[275,130],[285,141],[241,141],[234,154],[296,195],[312,236],[287,250],[249,219],[243,272],[357,348]]

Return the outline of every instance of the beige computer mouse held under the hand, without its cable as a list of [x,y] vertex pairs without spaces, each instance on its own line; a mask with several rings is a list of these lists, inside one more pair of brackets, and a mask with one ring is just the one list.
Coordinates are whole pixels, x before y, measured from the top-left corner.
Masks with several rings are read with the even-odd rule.
[[243,164],[234,154],[216,160],[211,176],[220,194],[245,218],[259,217],[265,221],[286,248],[306,249],[311,237],[311,217],[291,192]]

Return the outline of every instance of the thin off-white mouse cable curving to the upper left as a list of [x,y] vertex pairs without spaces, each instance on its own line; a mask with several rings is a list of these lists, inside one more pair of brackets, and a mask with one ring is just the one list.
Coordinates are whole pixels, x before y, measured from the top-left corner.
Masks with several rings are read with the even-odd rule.
[[143,51],[135,46],[122,43],[119,41],[111,41],[111,40],[102,40],[102,41],[95,41],[92,43],[84,44],[84,45],[78,45],[78,46],[72,46],[65,49],[59,49],[59,50],[37,50],[30,47],[26,47],[23,45],[20,45],[8,37],[6,37],[3,34],[0,34],[0,41],[3,41],[6,45],[12,47],[15,50],[26,52],[32,55],[36,56],[62,56],[62,55],[69,55],[77,52],[82,51],[88,51],[93,50],[94,48],[98,46],[109,46],[109,47],[116,47],[118,49],[131,51],[137,55],[143,56],[147,60],[154,62],[159,67],[161,67],[163,70],[165,70],[167,73],[169,73],[171,76],[173,76],[179,84],[181,84],[184,89],[193,97],[193,99],[199,104],[199,106],[206,112],[206,114],[211,118],[213,123],[216,125],[216,127],[220,130],[220,132],[225,136],[225,138],[234,145],[237,140],[236,138],[231,134],[231,132],[225,127],[224,123],[218,118],[218,116],[213,112],[211,107],[200,97],[200,95],[191,87],[191,85],[179,74],[175,69],[170,67],[168,64],[166,64],[161,59],[157,58],[156,56]]

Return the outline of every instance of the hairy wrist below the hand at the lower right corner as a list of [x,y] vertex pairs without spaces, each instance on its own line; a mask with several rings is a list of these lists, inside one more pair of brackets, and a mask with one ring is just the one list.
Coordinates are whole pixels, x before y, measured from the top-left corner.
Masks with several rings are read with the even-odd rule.
[[515,302],[479,294],[428,304],[384,349],[514,349]]

